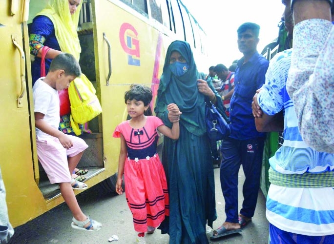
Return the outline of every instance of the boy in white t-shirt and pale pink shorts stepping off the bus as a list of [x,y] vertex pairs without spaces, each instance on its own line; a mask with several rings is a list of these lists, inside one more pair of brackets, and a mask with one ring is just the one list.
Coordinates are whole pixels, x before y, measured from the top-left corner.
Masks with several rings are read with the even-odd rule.
[[58,91],[81,75],[79,63],[73,55],[61,53],[51,62],[46,77],[38,79],[33,87],[36,125],[37,156],[50,183],[59,183],[65,203],[70,208],[75,229],[96,231],[102,224],[82,212],[73,189],[83,190],[87,185],[71,178],[70,172],[79,163],[88,145],[81,138],[66,135],[58,130]]

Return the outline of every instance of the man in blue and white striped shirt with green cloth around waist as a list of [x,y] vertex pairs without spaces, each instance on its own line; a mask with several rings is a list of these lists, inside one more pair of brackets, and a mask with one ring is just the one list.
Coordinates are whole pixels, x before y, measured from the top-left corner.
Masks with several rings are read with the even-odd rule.
[[[290,1],[285,19],[291,16]],[[291,30],[292,31],[292,30]],[[334,243],[334,154],[316,152],[303,142],[292,100],[286,90],[292,49],[271,60],[266,83],[252,103],[259,131],[280,131],[284,142],[269,160],[270,188],[266,216],[270,243]],[[263,111],[263,113],[262,113]]]

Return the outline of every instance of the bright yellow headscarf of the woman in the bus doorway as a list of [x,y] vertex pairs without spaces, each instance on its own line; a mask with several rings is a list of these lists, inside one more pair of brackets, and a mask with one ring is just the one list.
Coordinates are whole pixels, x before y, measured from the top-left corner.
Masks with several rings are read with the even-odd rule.
[[36,15],[44,15],[52,21],[62,52],[72,54],[77,61],[79,61],[81,53],[77,27],[83,1],[81,0],[73,15],[70,13],[68,0],[50,0],[46,8]]

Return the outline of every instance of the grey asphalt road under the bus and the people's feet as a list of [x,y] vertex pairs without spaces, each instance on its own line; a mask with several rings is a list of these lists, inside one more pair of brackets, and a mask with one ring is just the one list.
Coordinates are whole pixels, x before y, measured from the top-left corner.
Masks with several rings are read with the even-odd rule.
[[[216,209],[218,219],[213,223],[217,228],[226,218],[224,198],[220,189],[219,168],[214,169],[216,183]],[[239,172],[239,209],[242,204],[242,183],[244,175]],[[134,243],[136,233],[133,229],[131,213],[127,207],[125,194],[118,196],[103,191],[99,185],[85,190],[77,195],[84,213],[103,224],[97,232],[81,231],[71,228],[71,213],[65,203],[57,206],[40,217],[15,228],[15,234],[10,244],[107,244],[112,235],[119,237],[115,244]],[[259,192],[257,208],[252,222],[243,232],[230,235],[210,244],[267,244],[268,221],[265,217],[265,198]],[[208,239],[212,229],[207,227]],[[152,235],[146,235],[146,244],[168,244],[168,235],[161,235],[156,230]]]

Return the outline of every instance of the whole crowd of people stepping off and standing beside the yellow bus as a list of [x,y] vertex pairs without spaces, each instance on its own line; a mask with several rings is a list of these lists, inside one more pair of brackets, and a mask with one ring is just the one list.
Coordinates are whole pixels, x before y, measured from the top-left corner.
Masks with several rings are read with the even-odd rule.
[[[169,244],[209,244],[206,225],[212,228],[217,213],[207,101],[226,113],[231,129],[220,148],[226,219],[210,239],[240,233],[252,221],[266,132],[283,131],[283,145],[269,160],[269,243],[334,243],[332,0],[282,3],[293,50],[277,53],[269,62],[257,51],[260,26],[245,22],[236,30],[242,57],[229,68],[221,63],[210,66],[207,76],[198,72],[188,42],[171,42],[155,116],[150,88],[132,84],[125,92],[130,119],[113,132],[121,140],[116,191],[123,194],[124,175],[126,200],[138,232],[135,243],[145,243],[145,234],[158,228],[169,235]],[[75,173],[86,173],[76,166],[88,145],[59,129],[58,91],[82,75],[76,35],[81,4],[52,0],[33,21],[34,113],[38,159],[50,183],[59,183],[73,215],[71,226],[97,231],[102,224],[82,212],[73,192],[87,188]],[[40,77],[46,45],[51,49],[46,53],[46,75]],[[162,155],[157,154],[158,132],[165,135]],[[241,165],[245,182],[239,210]],[[2,222],[7,239],[13,229],[7,219]]]

